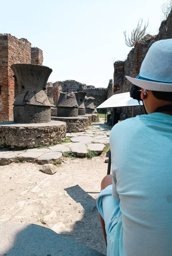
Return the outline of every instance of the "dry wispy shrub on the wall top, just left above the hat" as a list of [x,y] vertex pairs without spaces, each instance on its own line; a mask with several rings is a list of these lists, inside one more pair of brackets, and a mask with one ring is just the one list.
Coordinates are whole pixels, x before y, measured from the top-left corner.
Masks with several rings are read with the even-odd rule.
[[146,34],[146,28],[148,27],[148,22],[147,24],[144,24],[144,27],[142,28],[142,23],[143,20],[139,19],[139,22],[137,24],[137,27],[134,28],[131,32],[131,35],[128,35],[128,39],[126,36],[126,31],[124,31],[124,36],[125,36],[125,44],[129,47],[134,47],[137,43],[139,43],[145,36]]

